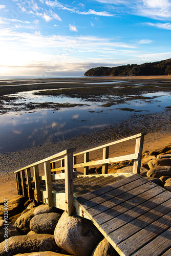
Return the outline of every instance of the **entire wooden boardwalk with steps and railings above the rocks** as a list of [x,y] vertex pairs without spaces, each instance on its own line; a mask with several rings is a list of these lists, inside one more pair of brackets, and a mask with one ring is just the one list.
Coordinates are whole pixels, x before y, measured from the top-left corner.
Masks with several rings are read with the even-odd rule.
[[[171,193],[139,175],[144,135],[76,154],[65,150],[19,169],[18,194],[91,220],[121,256],[171,255]],[[109,157],[110,146],[132,139],[134,154]],[[90,161],[89,153],[99,150],[102,159]],[[108,174],[109,164],[125,160],[134,161],[133,173]],[[101,175],[88,175],[89,167],[100,164]],[[84,175],[77,175],[78,168]]]

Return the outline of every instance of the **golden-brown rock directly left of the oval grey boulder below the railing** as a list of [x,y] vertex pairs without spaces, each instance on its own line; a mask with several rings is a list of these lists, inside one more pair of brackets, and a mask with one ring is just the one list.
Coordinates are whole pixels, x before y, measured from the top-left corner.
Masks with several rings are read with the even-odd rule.
[[19,216],[19,218],[15,221],[14,224],[19,228],[20,233],[26,234],[30,231],[30,221],[34,217],[33,211],[34,208]]

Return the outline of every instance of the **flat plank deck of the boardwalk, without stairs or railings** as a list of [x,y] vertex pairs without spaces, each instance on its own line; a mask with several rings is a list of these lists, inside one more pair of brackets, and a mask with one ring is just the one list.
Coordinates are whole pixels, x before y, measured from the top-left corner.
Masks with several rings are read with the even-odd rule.
[[120,255],[171,255],[171,193],[135,174],[76,198]]

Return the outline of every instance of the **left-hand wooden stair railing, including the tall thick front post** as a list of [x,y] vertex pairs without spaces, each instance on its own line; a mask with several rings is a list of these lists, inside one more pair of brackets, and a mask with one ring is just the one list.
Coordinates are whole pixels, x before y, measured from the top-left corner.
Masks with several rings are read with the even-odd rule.
[[[16,183],[17,183],[17,190],[18,195],[23,195],[24,197],[34,198],[39,201],[44,201],[47,203],[49,207],[53,206],[53,199],[52,199],[52,180],[57,179],[65,179],[65,190],[66,190],[66,211],[69,215],[71,215],[73,209],[73,152],[75,148],[70,150],[62,151],[56,155],[38,161],[36,163],[30,164],[22,169],[16,170]],[[53,174],[51,172],[51,161],[57,158],[64,157],[65,159],[65,173],[63,174]],[[38,165],[44,163],[44,170],[45,176],[39,176],[39,169]],[[34,177],[31,177],[30,168],[33,167]],[[26,172],[26,174],[25,174]],[[26,177],[25,177],[26,175]],[[75,176],[76,177],[76,176]],[[35,196],[33,194],[32,189],[32,180],[34,180],[35,184]],[[40,181],[45,180],[46,183],[46,198],[41,198],[40,192]],[[27,186],[26,186],[27,181]]]

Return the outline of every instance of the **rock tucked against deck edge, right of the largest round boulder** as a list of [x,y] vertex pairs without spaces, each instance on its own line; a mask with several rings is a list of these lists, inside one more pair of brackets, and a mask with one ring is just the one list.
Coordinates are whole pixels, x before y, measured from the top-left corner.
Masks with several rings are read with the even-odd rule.
[[95,248],[92,256],[119,256],[113,246],[104,238]]

